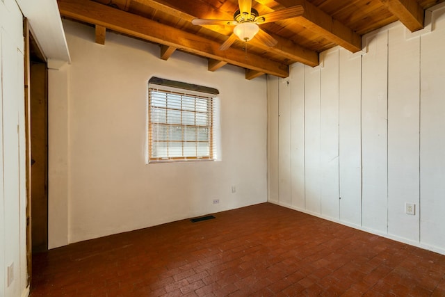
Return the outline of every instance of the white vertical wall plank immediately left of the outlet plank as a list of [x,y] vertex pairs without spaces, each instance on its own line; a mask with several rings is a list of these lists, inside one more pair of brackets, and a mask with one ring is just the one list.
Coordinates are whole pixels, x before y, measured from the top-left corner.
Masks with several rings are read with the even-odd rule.
[[362,65],[362,227],[387,233],[387,31],[364,38]]

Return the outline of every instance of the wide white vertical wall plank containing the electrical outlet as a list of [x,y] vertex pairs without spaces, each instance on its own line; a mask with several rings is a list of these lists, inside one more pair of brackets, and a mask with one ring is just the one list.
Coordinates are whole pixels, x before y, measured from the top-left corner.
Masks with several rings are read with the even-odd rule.
[[403,26],[388,30],[388,233],[419,241],[419,37]]

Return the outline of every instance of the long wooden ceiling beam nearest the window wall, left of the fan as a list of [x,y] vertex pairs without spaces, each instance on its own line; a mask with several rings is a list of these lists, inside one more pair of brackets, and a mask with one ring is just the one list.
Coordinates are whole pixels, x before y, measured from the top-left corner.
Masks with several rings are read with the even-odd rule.
[[241,49],[231,48],[220,51],[218,42],[94,1],[59,0],[58,6],[60,15],[81,22],[104,26],[107,29],[136,38],[156,42],[168,47],[176,47],[198,56],[225,61],[239,67],[272,74],[277,77],[289,77],[288,65],[270,61],[254,54],[250,54],[248,58],[245,58],[245,54]]

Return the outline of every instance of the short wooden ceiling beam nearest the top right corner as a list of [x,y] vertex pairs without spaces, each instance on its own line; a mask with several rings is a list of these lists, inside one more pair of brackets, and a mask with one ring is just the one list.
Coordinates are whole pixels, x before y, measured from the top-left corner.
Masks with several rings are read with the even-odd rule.
[[414,32],[423,29],[425,12],[416,0],[380,0],[404,24]]

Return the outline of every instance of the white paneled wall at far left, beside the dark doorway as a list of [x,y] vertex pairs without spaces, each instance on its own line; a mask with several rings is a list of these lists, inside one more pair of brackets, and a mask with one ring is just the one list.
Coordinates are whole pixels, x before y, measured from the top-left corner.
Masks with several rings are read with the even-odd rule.
[[[0,296],[27,296],[22,13],[0,2]],[[8,275],[8,267],[12,272]]]

